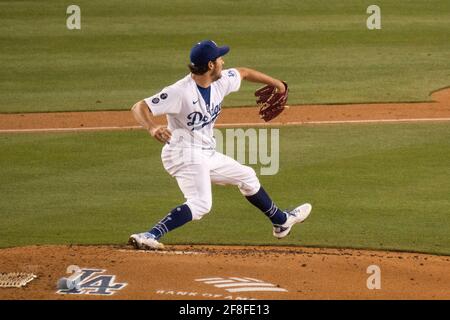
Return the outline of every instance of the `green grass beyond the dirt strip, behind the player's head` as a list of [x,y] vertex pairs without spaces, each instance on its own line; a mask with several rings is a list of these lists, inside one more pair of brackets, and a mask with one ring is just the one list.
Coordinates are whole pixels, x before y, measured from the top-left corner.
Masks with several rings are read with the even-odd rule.
[[[429,100],[450,84],[450,2],[380,0],[0,0],[0,112],[128,109],[187,73],[190,47],[212,38],[290,84],[291,103]],[[245,84],[226,105],[251,105]]]

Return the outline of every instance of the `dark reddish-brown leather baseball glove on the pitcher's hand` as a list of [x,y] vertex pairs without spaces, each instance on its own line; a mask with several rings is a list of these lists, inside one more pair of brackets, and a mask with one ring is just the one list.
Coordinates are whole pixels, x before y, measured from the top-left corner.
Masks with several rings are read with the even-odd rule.
[[268,122],[276,118],[286,107],[288,98],[288,85],[284,82],[286,90],[279,93],[275,86],[265,86],[255,91],[256,103],[260,107],[261,119]]

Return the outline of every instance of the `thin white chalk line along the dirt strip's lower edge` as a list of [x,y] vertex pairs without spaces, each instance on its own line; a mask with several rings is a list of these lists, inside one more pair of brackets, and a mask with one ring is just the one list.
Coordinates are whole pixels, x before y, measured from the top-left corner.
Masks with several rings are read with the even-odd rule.
[[[330,121],[293,121],[293,122],[271,122],[271,123],[219,123],[214,127],[274,127],[274,126],[299,126],[305,124],[348,124],[348,123],[396,123],[396,122],[432,122],[450,121],[450,118],[411,118],[411,119],[375,119],[375,120],[330,120]],[[1,129],[0,133],[21,132],[77,132],[77,131],[112,131],[112,130],[137,130],[141,126],[113,126],[113,127],[78,127],[78,128],[41,128],[41,129]]]

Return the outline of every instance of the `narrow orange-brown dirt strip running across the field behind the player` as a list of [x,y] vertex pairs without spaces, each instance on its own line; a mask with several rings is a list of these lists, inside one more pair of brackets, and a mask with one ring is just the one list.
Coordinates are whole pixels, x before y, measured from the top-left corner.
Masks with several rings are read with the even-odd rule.
[[[276,126],[339,123],[341,121],[450,120],[450,89],[436,91],[431,98],[433,102],[292,106],[268,124],[259,119],[256,107],[224,108],[216,126]],[[165,117],[158,119],[160,123],[165,122]],[[137,124],[129,111],[0,114],[0,133],[5,130],[60,130],[64,128],[111,130],[137,128]]]

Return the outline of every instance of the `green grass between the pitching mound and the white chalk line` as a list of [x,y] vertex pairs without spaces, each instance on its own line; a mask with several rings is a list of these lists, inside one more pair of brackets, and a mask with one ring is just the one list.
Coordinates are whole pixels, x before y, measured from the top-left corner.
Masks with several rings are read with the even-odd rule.
[[[0,135],[0,247],[120,244],[184,198],[144,131]],[[351,247],[450,255],[450,126],[280,129],[280,171],[261,176],[280,207],[313,213],[281,241],[234,187],[168,244]],[[255,166],[259,172],[258,166]]]

